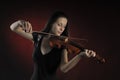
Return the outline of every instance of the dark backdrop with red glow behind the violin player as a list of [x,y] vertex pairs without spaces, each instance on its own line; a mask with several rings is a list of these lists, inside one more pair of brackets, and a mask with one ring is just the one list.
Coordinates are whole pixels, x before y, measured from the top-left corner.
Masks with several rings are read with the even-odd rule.
[[28,20],[33,30],[39,31],[56,10],[68,15],[71,37],[87,39],[84,47],[106,59],[105,64],[83,59],[68,73],[58,69],[58,77],[61,80],[119,78],[120,2],[20,0],[0,3],[0,80],[30,80],[33,71],[33,44],[12,32],[10,25],[19,19]]

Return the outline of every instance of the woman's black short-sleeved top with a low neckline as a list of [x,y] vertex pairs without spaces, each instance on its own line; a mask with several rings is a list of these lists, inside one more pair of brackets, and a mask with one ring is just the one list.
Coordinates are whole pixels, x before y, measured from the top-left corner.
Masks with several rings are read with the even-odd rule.
[[60,65],[62,48],[53,48],[49,53],[43,55],[41,53],[41,41],[43,36],[37,32],[33,32],[34,40],[34,72],[32,80],[58,80],[56,78],[56,70]]

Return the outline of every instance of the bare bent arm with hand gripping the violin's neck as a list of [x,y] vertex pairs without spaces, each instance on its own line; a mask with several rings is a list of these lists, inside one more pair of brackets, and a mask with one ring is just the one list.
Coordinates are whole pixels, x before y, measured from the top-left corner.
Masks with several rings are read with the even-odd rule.
[[67,55],[68,55],[67,50],[66,49],[63,50],[60,69],[64,73],[66,73],[70,69],[72,69],[82,59],[83,56],[94,57],[96,54],[92,50],[85,50],[85,52],[81,52],[80,54],[73,57],[70,61],[68,61],[68,56]]

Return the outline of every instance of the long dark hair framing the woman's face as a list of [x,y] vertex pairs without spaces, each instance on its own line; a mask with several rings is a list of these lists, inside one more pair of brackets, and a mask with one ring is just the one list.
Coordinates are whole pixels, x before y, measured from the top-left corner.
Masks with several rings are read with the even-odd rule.
[[68,36],[68,17],[66,16],[65,13],[61,12],[61,11],[56,11],[54,12],[51,17],[49,18],[47,24],[45,25],[45,28],[43,29],[42,32],[49,32],[50,29],[52,28],[52,24],[59,18],[59,17],[65,17],[67,19],[67,24],[66,24],[66,28],[63,31],[63,33],[61,35],[63,36]]

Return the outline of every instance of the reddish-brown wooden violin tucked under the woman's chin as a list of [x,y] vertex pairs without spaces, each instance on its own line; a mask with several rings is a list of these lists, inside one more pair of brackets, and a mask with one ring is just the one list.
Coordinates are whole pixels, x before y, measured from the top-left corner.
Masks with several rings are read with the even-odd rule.
[[[85,50],[85,48],[83,48],[81,45],[72,41],[66,36],[56,36],[54,34],[50,34],[46,32],[39,32],[39,33],[43,35],[51,35],[51,37],[49,38],[49,44],[51,47],[66,48],[68,53],[75,53],[75,54],[79,54],[80,52]],[[65,41],[66,38],[68,38],[67,41]],[[99,63],[105,63],[105,59],[98,54],[96,54],[94,58]]]

